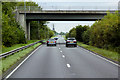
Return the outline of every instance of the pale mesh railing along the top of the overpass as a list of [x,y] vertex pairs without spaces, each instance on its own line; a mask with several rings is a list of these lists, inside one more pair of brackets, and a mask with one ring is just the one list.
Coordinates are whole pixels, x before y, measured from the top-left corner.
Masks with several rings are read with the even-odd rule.
[[44,10],[79,10],[79,11],[115,11],[116,6],[17,6],[18,11],[44,11]]

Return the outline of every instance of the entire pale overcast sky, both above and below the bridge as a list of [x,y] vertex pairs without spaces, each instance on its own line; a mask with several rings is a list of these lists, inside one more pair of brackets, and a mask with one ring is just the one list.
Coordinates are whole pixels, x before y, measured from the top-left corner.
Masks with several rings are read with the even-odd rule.
[[[30,0],[26,0],[30,1]],[[44,10],[59,9],[116,9],[120,0],[31,0],[38,3]],[[99,5],[99,6],[98,6]],[[48,27],[57,32],[69,32],[77,25],[91,26],[95,21],[49,21]]]

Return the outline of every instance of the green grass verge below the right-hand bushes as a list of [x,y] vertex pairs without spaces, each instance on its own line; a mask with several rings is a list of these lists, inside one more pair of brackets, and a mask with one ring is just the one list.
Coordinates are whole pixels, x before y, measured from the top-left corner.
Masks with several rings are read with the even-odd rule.
[[100,54],[104,57],[107,57],[109,59],[112,59],[112,60],[118,62],[118,55],[119,54],[117,52],[113,52],[113,51],[97,48],[97,47],[94,47],[94,46],[86,45],[86,44],[83,44],[82,42],[78,42],[77,44],[79,46],[82,46],[82,47],[90,50],[90,51],[96,52],[96,53],[98,53],[98,54]]

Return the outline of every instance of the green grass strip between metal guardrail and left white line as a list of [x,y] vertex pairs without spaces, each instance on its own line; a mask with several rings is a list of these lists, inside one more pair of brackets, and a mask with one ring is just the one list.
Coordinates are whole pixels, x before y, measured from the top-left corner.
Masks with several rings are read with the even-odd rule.
[[[9,69],[13,64],[15,64],[20,58],[24,57],[26,54],[34,50],[37,46],[39,46],[41,43],[35,44],[34,46],[31,46],[23,51],[17,52],[14,55],[11,55],[7,58],[2,59],[2,72]],[[0,66],[1,67],[1,66]]]

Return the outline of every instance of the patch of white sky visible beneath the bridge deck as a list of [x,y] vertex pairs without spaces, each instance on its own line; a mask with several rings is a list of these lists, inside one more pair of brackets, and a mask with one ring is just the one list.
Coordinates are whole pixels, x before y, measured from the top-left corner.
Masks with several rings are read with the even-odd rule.
[[48,27],[50,29],[53,29],[53,25],[55,28],[55,31],[58,33],[60,32],[69,32],[70,29],[72,29],[75,26],[78,25],[92,25],[94,21],[49,21]]

